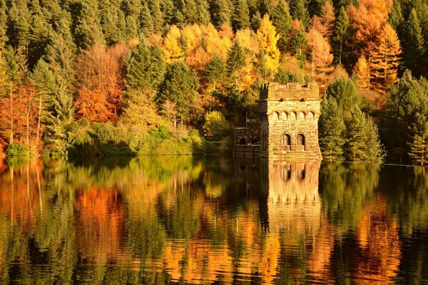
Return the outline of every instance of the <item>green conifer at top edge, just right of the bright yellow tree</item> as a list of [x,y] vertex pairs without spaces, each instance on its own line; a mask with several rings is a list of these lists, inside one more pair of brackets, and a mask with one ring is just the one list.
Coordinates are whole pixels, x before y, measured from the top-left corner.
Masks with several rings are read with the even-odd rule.
[[278,40],[278,47],[281,51],[285,51],[287,48],[288,35],[292,26],[290,10],[285,0],[280,0],[275,9],[273,9],[272,23],[280,35],[280,39]]

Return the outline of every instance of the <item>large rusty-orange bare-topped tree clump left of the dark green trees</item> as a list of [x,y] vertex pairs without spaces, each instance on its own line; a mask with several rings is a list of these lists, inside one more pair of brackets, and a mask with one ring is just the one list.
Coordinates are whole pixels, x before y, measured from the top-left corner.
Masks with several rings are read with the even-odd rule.
[[116,120],[121,113],[124,46],[93,46],[76,61],[79,118],[89,121]]

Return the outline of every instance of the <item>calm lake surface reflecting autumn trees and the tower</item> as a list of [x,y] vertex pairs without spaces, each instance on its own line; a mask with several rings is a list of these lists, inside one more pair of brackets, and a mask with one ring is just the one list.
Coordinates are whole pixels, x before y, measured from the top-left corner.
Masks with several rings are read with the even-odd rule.
[[0,284],[428,284],[422,167],[0,162]]

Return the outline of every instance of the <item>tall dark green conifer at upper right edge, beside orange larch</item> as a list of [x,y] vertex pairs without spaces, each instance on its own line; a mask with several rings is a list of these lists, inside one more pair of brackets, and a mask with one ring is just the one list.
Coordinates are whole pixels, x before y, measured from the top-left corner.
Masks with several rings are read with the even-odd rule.
[[427,48],[422,36],[421,25],[414,9],[410,12],[409,19],[404,22],[402,33],[404,66],[411,70],[414,76],[421,76],[424,73],[421,58],[424,58]]

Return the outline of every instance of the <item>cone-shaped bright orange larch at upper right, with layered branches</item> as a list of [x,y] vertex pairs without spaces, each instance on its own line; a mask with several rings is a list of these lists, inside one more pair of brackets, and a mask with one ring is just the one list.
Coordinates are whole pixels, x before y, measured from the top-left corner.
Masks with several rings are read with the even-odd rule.
[[370,63],[373,83],[380,90],[388,90],[389,86],[397,82],[400,54],[397,33],[391,25],[386,24],[379,34],[379,43],[374,48]]

